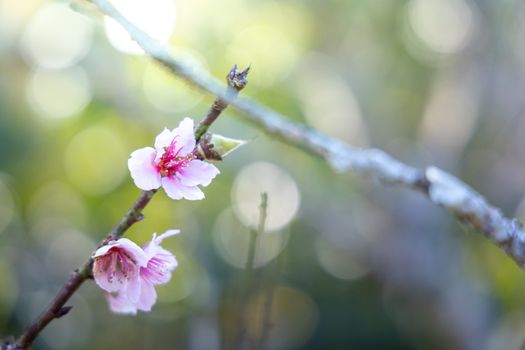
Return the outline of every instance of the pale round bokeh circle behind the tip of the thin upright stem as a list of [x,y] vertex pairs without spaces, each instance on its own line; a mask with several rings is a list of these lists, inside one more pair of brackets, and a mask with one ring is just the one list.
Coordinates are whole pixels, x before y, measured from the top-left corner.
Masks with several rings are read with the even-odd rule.
[[266,229],[276,231],[288,225],[299,210],[299,189],[287,172],[267,162],[245,166],[235,179],[232,206],[239,220],[248,227],[257,227],[262,192],[268,194]]

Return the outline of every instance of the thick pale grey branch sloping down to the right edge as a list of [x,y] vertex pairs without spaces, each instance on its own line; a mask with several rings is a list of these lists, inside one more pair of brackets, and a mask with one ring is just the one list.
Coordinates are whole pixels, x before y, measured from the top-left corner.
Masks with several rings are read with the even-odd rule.
[[478,192],[456,177],[436,168],[416,169],[379,149],[358,149],[304,125],[289,121],[266,106],[246,98],[233,99],[216,79],[179,61],[146,33],[123,17],[107,0],[92,0],[115,19],[142,49],[174,75],[231,104],[259,129],[324,159],[336,172],[353,171],[386,184],[423,192],[430,201],[469,222],[500,246],[520,267],[525,265],[525,232],[516,219],[505,217]]

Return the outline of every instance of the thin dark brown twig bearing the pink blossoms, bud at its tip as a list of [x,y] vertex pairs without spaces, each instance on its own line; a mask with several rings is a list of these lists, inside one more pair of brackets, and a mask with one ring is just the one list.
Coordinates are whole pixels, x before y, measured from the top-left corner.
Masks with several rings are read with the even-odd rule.
[[[232,84],[235,84],[237,81],[240,81],[239,79],[242,78],[242,82],[239,83],[239,86],[236,87],[237,93],[242,90],[242,88],[247,84],[246,76],[248,74],[248,70],[238,73],[236,70],[236,66],[230,71],[230,74],[227,76],[227,82],[229,89],[232,87]],[[241,87],[242,85],[242,87]],[[215,101],[214,105],[217,101]],[[222,104],[222,109],[218,111],[218,113],[215,113],[214,118],[209,118],[208,116],[204,119],[206,121],[205,123],[205,129],[202,133],[196,134],[195,139],[198,142],[201,136],[204,134],[204,132],[207,130],[207,128],[217,119],[217,117],[220,115],[220,113],[228,106],[227,104]],[[213,107],[211,108],[213,110]],[[199,125],[203,125],[201,122]],[[99,245],[99,247],[104,246],[108,244],[110,241],[119,239],[124,235],[124,233],[136,222],[143,219],[142,210],[146,207],[146,205],[150,202],[150,200],[153,198],[153,196],[157,193],[157,190],[150,190],[150,191],[143,191],[140,196],[137,198],[135,203],[129,208],[129,210],[122,216],[120,221],[118,222],[115,227],[111,230],[111,232],[106,236],[106,238],[102,241],[102,243]],[[35,338],[40,334],[40,332],[54,319],[60,318],[67,314],[69,310],[71,310],[70,306],[64,306],[67,301],[71,298],[71,296],[78,290],[78,288],[86,281],[87,279],[91,278],[92,276],[92,267],[93,267],[93,258],[89,258],[84,265],[73,272],[69,278],[69,280],[60,288],[56,296],[53,298],[53,300],[49,303],[49,305],[44,309],[44,311],[37,317],[35,320],[27,327],[25,332],[17,339],[15,344],[8,344],[5,345],[7,350],[19,350],[19,349],[27,349]]]

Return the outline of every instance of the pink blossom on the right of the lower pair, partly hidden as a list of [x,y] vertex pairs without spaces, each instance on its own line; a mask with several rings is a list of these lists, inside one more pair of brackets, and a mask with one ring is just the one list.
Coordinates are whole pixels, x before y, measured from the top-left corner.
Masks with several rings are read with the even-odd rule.
[[[160,243],[164,238],[176,235],[179,232],[178,230],[169,230],[158,237],[153,234],[151,241],[143,247],[147,260],[140,267],[138,282],[130,285],[136,290],[133,293],[129,291],[108,293],[107,299],[111,311],[121,314],[136,314],[137,310],[151,311],[157,301],[157,292],[154,286],[167,283],[171,279],[171,271],[177,267],[175,256],[162,248]],[[130,296],[136,297],[131,298]]]

